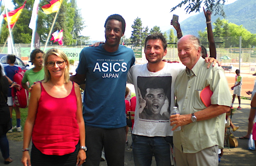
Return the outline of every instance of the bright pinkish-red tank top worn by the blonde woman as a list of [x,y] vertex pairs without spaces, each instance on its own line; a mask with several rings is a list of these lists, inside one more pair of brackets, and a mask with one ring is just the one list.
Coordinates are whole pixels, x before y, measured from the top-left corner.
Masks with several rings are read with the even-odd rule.
[[34,146],[46,155],[65,155],[74,152],[79,141],[76,119],[77,97],[74,83],[64,98],[50,96],[41,84],[37,115],[32,132]]

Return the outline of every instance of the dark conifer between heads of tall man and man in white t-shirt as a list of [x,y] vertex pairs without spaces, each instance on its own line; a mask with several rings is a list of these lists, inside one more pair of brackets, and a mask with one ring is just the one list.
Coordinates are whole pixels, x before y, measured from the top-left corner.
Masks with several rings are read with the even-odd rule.
[[137,44],[137,46],[139,46],[139,44],[141,44],[141,36],[143,33],[143,27],[142,27],[142,22],[140,18],[136,18],[133,22],[132,25],[133,31],[132,31],[132,36],[131,38],[131,43],[133,44]]

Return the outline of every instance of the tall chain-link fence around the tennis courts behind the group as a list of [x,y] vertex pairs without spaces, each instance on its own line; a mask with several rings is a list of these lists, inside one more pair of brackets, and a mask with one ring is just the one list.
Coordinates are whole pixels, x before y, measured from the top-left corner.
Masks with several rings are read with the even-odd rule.
[[[207,38],[200,38],[200,41],[207,49],[208,55],[210,55]],[[217,51],[217,60],[222,63],[223,68],[226,66],[225,73],[230,87],[232,87],[235,83],[235,70],[240,69],[241,76],[243,77],[241,96],[250,97],[250,95],[247,95],[245,91],[252,91],[254,87],[255,76],[252,76],[252,74],[256,72],[256,40],[245,40],[243,36],[225,38],[215,37],[215,45]],[[134,49],[137,64],[147,63],[144,54],[144,43],[141,45],[125,44],[125,46]],[[50,48],[62,49],[62,51],[67,54],[69,59],[73,59],[75,61],[74,68],[76,68],[79,60],[79,53],[84,47],[89,47],[89,45],[48,45],[45,50],[47,51]],[[41,49],[43,50],[42,47]],[[7,53],[7,45],[5,47],[0,45],[0,51],[1,53]],[[28,63],[30,44],[15,44],[15,51],[16,55],[20,57],[24,63]],[[228,58],[223,59],[224,56]],[[177,51],[177,41],[174,41],[174,43],[168,43],[167,54],[163,59],[180,61]],[[231,90],[230,93],[233,94]]]

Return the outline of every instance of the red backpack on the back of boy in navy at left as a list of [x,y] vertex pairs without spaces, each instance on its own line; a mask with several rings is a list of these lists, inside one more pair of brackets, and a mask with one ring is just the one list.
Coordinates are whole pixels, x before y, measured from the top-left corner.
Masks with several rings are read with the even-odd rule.
[[16,70],[15,75],[13,76],[13,82],[16,82],[21,87],[20,90],[12,88],[12,100],[14,106],[26,108],[28,106],[28,91],[21,85],[21,81],[26,70],[22,70],[20,67],[18,68],[19,70]]

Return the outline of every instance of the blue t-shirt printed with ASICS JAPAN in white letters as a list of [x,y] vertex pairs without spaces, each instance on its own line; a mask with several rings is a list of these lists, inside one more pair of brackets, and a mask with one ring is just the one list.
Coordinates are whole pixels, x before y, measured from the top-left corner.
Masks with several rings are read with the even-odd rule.
[[85,125],[107,129],[126,126],[124,96],[127,73],[134,63],[133,50],[122,45],[115,52],[105,51],[102,44],[80,52],[76,72],[86,75]]

